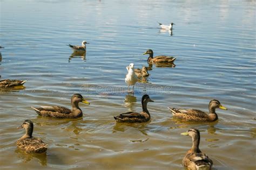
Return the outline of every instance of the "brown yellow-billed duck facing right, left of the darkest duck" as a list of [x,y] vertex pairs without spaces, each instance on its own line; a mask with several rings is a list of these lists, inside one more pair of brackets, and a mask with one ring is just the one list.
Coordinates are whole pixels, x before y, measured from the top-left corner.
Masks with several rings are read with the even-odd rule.
[[83,98],[82,95],[74,94],[71,97],[71,110],[60,106],[41,106],[40,108],[31,108],[34,109],[40,116],[54,118],[78,118],[83,116],[83,112],[78,106],[79,102],[90,104]]

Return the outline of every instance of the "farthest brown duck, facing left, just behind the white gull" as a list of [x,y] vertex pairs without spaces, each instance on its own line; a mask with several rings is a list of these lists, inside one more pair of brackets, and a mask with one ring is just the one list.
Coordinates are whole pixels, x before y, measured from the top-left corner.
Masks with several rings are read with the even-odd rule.
[[147,49],[143,55],[149,54],[149,58],[147,58],[148,63],[171,63],[176,60],[176,57],[166,56],[166,55],[158,55],[153,58],[152,49]]

